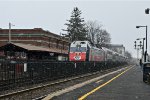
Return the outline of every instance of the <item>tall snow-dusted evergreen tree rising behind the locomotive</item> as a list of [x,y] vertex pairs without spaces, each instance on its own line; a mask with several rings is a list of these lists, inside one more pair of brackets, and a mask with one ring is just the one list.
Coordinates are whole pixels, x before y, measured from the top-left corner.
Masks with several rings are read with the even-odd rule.
[[69,37],[70,41],[86,40],[86,28],[81,14],[81,11],[75,7],[70,20],[67,20],[69,23],[65,24],[67,25],[67,30],[64,31],[67,31],[66,37]]

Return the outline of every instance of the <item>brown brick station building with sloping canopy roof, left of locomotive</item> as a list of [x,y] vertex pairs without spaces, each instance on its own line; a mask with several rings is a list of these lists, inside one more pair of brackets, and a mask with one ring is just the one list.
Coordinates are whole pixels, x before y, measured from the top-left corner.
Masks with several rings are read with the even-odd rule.
[[68,58],[69,39],[42,28],[0,29],[0,56],[8,59],[49,59]]

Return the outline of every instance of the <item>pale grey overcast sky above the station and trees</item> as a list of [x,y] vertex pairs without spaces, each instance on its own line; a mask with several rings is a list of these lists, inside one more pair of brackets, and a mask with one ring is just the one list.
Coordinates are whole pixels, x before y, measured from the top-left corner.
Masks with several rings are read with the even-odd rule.
[[98,21],[111,35],[113,44],[123,44],[134,57],[134,41],[145,37],[148,25],[148,53],[150,53],[150,8],[148,0],[0,0],[0,28],[43,28],[60,34],[74,7],[82,11],[85,21]]

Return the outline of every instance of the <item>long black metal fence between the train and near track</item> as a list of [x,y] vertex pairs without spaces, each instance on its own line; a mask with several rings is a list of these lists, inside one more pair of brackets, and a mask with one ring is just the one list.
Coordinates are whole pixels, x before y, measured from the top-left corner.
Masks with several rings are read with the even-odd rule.
[[125,65],[125,62],[1,61],[0,91]]

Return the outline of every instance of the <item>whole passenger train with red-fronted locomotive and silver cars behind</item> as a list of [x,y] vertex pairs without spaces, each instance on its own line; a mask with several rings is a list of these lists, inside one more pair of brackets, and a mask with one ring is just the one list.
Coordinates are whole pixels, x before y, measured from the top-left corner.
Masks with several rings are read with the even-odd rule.
[[70,45],[69,61],[125,61],[126,56],[106,47],[96,47],[89,41],[73,41]]

